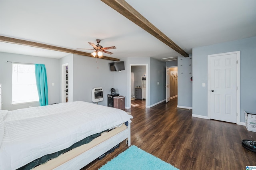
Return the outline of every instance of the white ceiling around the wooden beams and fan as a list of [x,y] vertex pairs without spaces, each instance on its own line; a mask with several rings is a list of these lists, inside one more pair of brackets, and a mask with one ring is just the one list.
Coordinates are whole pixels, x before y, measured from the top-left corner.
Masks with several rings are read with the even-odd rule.
[[[256,0],[126,0],[192,54],[193,47],[256,36]],[[69,49],[115,45],[105,56],[180,55],[100,0],[0,0],[0,35]],[[68,53],[0,42],[0,51],[60,58]],[[85,52],[92,52],[85,50]]]

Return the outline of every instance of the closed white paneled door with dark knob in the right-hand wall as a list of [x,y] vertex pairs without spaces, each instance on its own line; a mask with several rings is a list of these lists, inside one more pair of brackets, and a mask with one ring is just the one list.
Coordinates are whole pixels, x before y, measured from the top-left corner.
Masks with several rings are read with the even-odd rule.
[[237,54],[210,56],[210,119],[237,123]]

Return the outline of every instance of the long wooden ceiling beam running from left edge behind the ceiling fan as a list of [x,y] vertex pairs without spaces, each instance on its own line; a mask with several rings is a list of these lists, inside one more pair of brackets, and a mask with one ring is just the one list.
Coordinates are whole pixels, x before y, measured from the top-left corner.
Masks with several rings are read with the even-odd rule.
[[[5,37],[5,36],[0,36],[0,42],[14,43],[14,44],[26,45],[26,46],[30,46],[30,47],[38,47],[38,48],[43,48],[43,49],[50,49],[50,50],[54,50],[54,51],[65,52],[65,53],[72,53],[72,54],[93,57],[93,55],[91,55],[91,53],[86,53],[86,52],[77,51],[74,49],[63,48],[63,47],[56,47],[53,45],[47,45],[47,44],[43,44],[43,43],[30,42],[30,41],[26,41],[26,40],[20,40],[20,39],[16,39],[16,38]],[[102,56],[101,59],[120,61],[120,59],[118,59],[118,58],[112,58],[112,57],[106,57],[106,56]]]

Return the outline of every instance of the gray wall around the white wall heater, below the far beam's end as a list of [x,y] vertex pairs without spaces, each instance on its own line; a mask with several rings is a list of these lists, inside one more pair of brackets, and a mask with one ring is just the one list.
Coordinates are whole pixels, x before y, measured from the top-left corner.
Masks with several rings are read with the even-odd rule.
[[[92,103],[92,89],[102,87],[103,101],[98,105],[107,106],[107,94],[114,87],[114,73],[109,69],[106,59],[73,55],[73,101],[86,101]],[[98,67],[98,68],[97,68]]]

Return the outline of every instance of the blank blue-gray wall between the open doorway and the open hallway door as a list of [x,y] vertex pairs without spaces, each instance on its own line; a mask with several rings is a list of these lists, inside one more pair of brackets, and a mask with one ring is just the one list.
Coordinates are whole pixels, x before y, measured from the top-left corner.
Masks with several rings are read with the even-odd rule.
[[150,105],[165,99],[165,70],[166,62],[150,57]]

